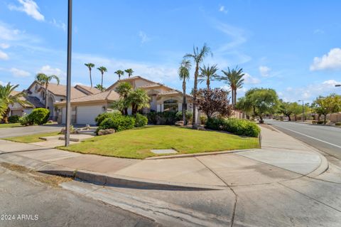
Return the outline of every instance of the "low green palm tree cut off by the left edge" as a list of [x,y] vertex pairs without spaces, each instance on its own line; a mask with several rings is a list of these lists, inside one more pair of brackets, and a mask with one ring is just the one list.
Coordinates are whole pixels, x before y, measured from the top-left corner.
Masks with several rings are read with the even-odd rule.
[[13,94],[14,90],[16,90],[18,86],[19,85],[11,85],[11,83],[8,83],[7,85],[0,85],[0,114],[4,116],[4,123],[9,122],[9,105],[13,105],[14,103],[18,103],[19,105],[31,105],[22,98],[26,95],[26,93],[21,92]]

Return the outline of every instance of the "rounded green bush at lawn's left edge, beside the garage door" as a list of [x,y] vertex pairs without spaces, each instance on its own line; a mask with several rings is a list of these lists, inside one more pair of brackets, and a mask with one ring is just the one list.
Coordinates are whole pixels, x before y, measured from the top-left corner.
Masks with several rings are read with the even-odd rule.
[[114,129],[116,132],[123,130],[131,130],[135,127],[135,118],[130,116],[117,115],[116,117],[109,117],[104,119],[99,127],[99,130]]

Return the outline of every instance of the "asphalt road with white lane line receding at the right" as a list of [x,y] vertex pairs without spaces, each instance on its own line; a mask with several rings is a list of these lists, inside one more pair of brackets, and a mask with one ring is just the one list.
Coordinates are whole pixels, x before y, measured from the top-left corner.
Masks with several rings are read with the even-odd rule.
[[276,120],[266,120],[266,123],[322,152],[341,159],[341,128]]

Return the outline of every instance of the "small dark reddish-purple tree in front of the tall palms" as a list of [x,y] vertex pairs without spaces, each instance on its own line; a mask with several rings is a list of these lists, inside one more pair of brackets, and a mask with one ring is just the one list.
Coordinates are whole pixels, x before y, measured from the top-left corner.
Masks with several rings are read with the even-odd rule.
[[215,115],[231,116],[232,105],[229,105],[228,94],[229,92],[222,88],[198,90],[199,110],[205,112],[208,119]]

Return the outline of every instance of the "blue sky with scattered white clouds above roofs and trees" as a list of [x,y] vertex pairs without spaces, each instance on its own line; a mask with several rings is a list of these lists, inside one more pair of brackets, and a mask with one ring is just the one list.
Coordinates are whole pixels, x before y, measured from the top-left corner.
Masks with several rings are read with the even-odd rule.
[[[84,63],[181,89],[178,65],[207,43],[226,70],[247,74],[245,90],[274,88],[284,100],[341,93],[341,1],[73,1],[72,83],[89,85]],[[67,0],[0,0],[0,83],[30,85],[38,72],[66,78]],[[192,73],[193,74],[193,73]],[[94,83],[100,73],[94,70]],[[188,90],[193,80],[188,82]],[[205,86],[202,84],[202,86]],[[224,83],[213,82],[222,87]]]

